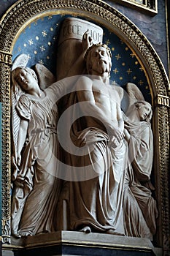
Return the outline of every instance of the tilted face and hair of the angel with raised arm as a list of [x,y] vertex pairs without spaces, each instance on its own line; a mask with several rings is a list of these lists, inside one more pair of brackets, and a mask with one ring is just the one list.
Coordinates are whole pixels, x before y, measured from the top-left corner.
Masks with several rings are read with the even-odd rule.
[[23,91],[33,89],[34,83],[36,82],[31,72],[28,72],[26,69],[18,69],[15,73],[15,80]]

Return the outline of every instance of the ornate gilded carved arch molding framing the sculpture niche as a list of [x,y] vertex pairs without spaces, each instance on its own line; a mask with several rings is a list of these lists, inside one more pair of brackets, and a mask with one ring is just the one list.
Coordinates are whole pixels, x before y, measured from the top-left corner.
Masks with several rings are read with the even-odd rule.
[[10,243],[10,68],[18,34],[31,20],[47,14],[72,13],[98,20],[134,50],[144,67],[154,108],[155,184],[160,205],[158,246],[167,248],[169,225],[169,80],[157,53],[141,31],[124,15],[99,0],[21,0],[0,23],[0,97],[2,102],[2,240]]

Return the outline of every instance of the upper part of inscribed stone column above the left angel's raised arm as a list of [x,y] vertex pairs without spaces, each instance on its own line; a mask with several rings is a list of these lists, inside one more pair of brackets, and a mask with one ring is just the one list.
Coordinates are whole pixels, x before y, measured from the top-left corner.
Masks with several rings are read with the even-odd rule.
[[[66,18],[64,20],[58,41],[57,80],[66,78],[70,67],[77,61],[82,53],[82,36],[88,31],[93,43],[102,42],[103,29],[87,20],[79,18]],[[81,75],[79,67],[75,67],[74,75]]]

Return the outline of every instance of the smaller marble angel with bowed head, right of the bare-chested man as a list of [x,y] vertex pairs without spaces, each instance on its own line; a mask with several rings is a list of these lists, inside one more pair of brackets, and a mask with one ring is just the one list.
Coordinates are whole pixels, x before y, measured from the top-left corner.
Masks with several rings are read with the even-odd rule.
[[152,107],[134,83],[127,84],[129,108],[124,116],[124,135],[128,143],[123,213],[126,236],[150,238],[155,234],[158,211],[150,181],[153,138]]

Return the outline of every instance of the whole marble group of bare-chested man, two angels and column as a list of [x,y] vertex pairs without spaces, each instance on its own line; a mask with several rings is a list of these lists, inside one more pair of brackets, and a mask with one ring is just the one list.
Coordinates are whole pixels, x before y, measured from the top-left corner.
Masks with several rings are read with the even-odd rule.
[[12,236],[62,230],[63,202],[66,230],[155,234],[152,106],[134,83],[111,84],[102,37],[93,23],[68,18],[55,75],[27,67],[26,56],[14,61]]

